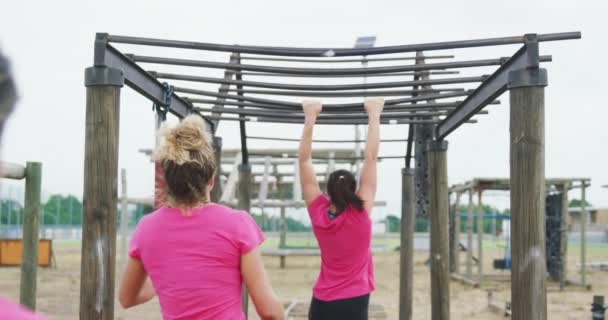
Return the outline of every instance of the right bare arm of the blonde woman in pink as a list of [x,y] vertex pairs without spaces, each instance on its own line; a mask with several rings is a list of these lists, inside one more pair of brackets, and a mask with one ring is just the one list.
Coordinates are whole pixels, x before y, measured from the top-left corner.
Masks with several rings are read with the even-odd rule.
[[284,319],[283,305],[272,290],[259,248],[256,247],[241,256],[241,274],[260,318]]

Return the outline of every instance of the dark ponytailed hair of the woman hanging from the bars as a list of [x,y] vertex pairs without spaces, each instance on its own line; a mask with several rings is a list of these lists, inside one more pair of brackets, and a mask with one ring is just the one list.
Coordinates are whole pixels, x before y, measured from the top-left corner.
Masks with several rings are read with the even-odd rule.
[[340,214],[349,206],[363,210],[363,200],[357,195],[357,180],[348,170],[336,170],[327,180],[327,193],[331,203],[336,207],[335,213]]

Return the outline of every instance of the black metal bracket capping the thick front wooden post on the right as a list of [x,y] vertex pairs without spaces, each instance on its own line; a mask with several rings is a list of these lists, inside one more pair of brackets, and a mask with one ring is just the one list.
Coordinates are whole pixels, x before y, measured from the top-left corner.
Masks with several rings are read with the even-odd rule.
[[546,87],[547,70],[539,68],[540,54],[538,49],[538,35],[527,34],[526,39],[526,67],[509,72],[508,88]]

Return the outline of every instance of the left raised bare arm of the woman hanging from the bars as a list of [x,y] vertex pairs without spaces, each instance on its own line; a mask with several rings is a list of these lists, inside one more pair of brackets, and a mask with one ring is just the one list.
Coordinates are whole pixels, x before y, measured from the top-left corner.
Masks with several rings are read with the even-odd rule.
[[317,182],[315,168],[312,165],[312,131],[322,108],[319,101],[304,100],[302,102],[302,109],[304,109],[305,116],[298,159],[300,166],[300,184],[302,185],[306,206],[309,206],[312,201],[321,194],[321,188],[319,188],[319,183]]

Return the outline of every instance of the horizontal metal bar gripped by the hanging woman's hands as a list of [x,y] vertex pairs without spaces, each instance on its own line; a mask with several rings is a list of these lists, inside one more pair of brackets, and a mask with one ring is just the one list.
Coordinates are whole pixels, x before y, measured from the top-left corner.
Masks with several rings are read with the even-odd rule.
[[[182,88],[182,87],[175,87],[174,91],[181,92],[181,93],[208,96],[208,97],[225,98],[225,99],[231,99],[231,100],[243,100],[243,101],[254,102],[254,103],[277,105],[277,106],[289,107],[290,109],[294,109],[294,110],[300,110],[302,108],[301,103],[292,102],[292,101],[263,99],[263,98],[256,98],[256,97],[250,97],[250,96],[238,96],[238,95],[223,94],[223,93],[217,93],[217,92],[212,92],[212,91],[189,89],[189,88]],[[463,97],[463,96],[467,96],[468,94],[469,94],[469,91],[421,95],[421,96],[410,97],[410,98],[386,100],[384,102],[384,105],[390,106],[390,105],[395,105],[395,104],[402,104],[402,103],[416,102],[416,101]],[[342,104],[324,104],[323,108],[326,110],[341,109],[341,108],[363,109],[363,103],[357,102],[357,103],[342,103]]]

